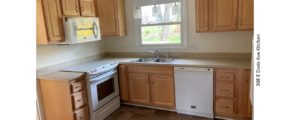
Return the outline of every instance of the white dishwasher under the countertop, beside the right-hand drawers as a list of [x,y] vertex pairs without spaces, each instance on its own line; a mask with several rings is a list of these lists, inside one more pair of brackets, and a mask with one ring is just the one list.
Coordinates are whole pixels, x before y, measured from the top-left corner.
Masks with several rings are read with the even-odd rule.
[[213,118],[213,68],[174,67],[176,111]]

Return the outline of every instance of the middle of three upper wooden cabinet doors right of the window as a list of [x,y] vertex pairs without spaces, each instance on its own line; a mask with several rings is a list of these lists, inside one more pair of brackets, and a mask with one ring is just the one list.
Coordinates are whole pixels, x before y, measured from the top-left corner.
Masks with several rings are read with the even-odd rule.
[[214,31],[237,29],[237,0],[214,0]]

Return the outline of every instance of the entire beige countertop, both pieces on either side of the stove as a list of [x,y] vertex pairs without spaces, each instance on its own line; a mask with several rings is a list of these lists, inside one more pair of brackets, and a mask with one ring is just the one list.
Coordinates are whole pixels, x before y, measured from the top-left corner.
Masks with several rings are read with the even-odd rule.
[[[113,58],[104,57],[96,61],[115,61],[119,64],[126,65],[150,65],[150,66],[173,66],[173,67],[211,67],[211,68],[239,68],[251,69],[251,61],[245,59],[194,59],[194,58],[177,58],[171,63],[155,63],[155,62],[132,62],[138,58],[123,57]],[[60,70],[60,69],[59,69]],[[81,73],[61,72],[55,70],[49,74],[37,75],[38,79],[56,79],[56,80],[72,80],[81,75]]]

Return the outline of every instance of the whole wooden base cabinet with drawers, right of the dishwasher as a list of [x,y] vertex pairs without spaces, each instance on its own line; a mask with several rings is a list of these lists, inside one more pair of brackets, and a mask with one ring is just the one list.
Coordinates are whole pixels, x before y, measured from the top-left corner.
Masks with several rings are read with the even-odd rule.
[[215,69],[215,115],[251,119],[250,70]]

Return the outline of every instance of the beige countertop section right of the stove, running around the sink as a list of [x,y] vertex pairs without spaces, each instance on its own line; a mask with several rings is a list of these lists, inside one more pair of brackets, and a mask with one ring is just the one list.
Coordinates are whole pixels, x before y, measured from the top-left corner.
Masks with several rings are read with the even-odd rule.
[[177,58],[170,63],[156,62],[132,62],[138,58],[102,58],[98,61],[115,61],[119,64],[152,65],[152,66],[174,66],[174,67],[213,67],[213,68],[239,68],[251,69],[251,61],[243,59],[193,59]]

